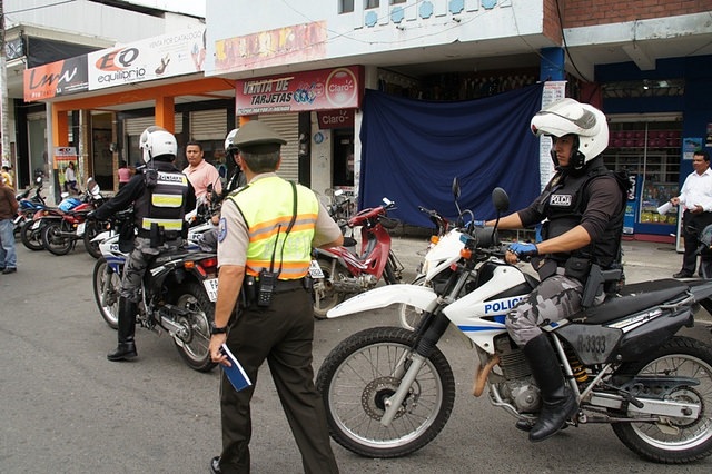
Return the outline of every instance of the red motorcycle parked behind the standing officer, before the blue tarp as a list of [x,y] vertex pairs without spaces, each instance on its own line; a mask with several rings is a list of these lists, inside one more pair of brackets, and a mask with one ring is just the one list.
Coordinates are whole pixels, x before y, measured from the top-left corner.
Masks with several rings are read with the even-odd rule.
[[314,316],[326,313],[353,295],[375,287],[383,278],[387,285],[400,283],[403,265],[390,250],[390,235],[398,221],[387,216],[395,203],[384,198],[379,207],[364,209],[348,219],[348,227],[360,226],[360,254],[356,240],[345,237],[344,246],[314,250],[309,274],[313,278]]

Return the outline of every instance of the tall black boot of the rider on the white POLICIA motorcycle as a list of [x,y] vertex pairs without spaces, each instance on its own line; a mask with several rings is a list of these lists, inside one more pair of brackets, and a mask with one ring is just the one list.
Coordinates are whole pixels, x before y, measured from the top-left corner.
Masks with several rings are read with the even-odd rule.
[[530,441],[537,442],[558,433],[566,421],[576,414],[578,406],[564,384],[556,353],[545,334],[524,346],[524,356],[542,393],[542,411],[530,431]]

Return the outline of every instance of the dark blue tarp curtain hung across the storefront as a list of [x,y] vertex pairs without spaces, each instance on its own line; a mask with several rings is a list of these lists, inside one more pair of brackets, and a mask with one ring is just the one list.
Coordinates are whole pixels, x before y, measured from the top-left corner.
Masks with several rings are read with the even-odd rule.
[[418,206],[449,219],[457,216],[453,178],[462,187],[459,205],[475,219],[495,217],[492,190],[500,186],[517,210],[538,196],[538,138],[530,120],[541,109],[543,85],[484,99],[432,102],[367,89],[360,131],[359,209],[384,197],[397,209],[389,216],[432,227]]

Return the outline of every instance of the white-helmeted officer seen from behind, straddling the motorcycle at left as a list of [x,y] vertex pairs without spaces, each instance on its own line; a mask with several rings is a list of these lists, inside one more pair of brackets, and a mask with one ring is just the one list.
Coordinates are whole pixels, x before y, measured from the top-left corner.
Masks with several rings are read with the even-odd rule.
[[134,176],[113,198],[87,216],[103,220],[132,205],[134,224],[138,229],[121,277],[119,344],[107,355],[112,362],[136,357],[134,333],[141,279],[156,256],[180,246],[184,217],[196,207],[196,194],[188,177],[172,165],[178,151],[176,137],[151,126],[141,134],[139,145],[147,164],[144,172]]

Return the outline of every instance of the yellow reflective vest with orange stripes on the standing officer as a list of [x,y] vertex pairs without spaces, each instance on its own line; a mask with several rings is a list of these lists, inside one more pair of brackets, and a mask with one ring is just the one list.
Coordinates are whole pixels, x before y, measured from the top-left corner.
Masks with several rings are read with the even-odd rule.
[[319,213],[314,192],[297,185],[297,216],[288,236],[294,209],[294,194],[288,181],[276,176],[261,178],[229,198],[247,224],[247,274],[258,276],[261,269],[269,269],[274,255],[274,271],[281,267],[279,279],[304,277],[312,260],[312,240]]

